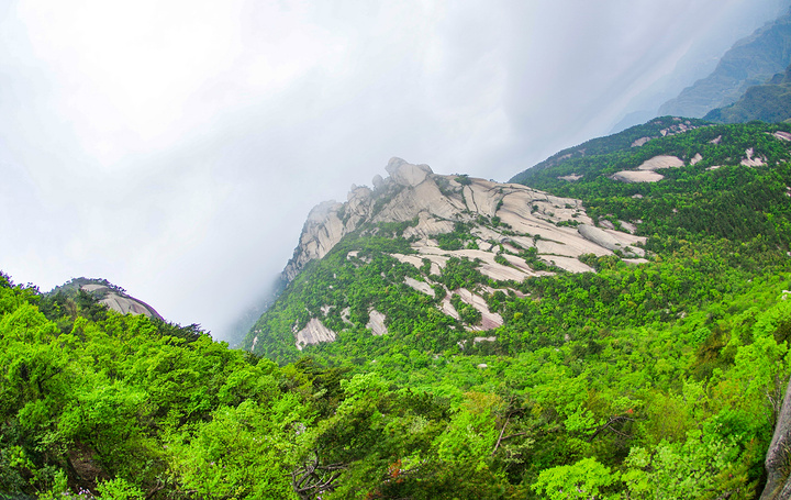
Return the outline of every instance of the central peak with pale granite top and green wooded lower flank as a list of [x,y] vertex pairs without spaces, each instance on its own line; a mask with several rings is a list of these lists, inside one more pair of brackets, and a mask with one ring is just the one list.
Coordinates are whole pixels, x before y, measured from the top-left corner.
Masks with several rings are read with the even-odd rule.
[[290,344],[293,355],[385,333],[405,342],[420,325],[446,348],[503,324],[489,307],[498,290],[514,295],[530,277],[590,271],[586,255],[643,262],[645,238],[593,226],[578,200],[435,175],[399,158],[387,170],[372,190],[353,187],[347,202],[311,211],[283,271],[291,282],[245,347],[283,355]]

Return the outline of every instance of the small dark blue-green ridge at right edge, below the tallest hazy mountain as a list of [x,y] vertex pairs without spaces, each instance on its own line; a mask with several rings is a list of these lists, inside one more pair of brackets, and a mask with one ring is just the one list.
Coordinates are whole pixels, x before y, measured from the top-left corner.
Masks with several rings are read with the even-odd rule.
[[775,123],[791,120],[791,66],[766,84],[748,88],[733,104],[710,111],[705,120],[717,123],[746,123],[753,120]]

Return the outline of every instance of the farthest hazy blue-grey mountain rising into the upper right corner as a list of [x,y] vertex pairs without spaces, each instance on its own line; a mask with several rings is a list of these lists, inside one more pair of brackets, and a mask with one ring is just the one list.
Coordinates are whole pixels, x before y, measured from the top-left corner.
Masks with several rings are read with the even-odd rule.
[[791,64],[791,11],[738,41],[714,71],[664,103],[659,114],[701,118],[737,101]]

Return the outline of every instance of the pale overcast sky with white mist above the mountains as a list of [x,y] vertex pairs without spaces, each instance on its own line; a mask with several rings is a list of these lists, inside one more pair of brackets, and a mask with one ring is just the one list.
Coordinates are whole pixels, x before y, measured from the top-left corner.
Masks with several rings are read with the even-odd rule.
[[0,0],[0,269],[223,338],[390,157],[508,180],[788,3]]

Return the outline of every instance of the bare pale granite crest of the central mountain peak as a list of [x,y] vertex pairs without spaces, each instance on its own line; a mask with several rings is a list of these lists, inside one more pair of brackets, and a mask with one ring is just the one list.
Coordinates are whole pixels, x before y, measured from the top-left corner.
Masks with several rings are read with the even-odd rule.
[[[578,200],[556,198],[521,185],[437,175],[427,165],[413,165],[401,158],[391,158],[386,170],[387,178],[378,175],[374,178],[376,190],[353,185],[345,203],[325,201],[311,210],[300,243],[283,270],[287,282],[309,262],[326,255],[345,235],[365,224],[380,222],[414,220],[404,237],[426,253],[427,248],[438,251],[435,237],[453,232],[455,224],[461,222],[478,226],[481,244],[515,238],[524,240],[520,243],[524,247],[539,246],[539,254],[547,247],[547,253],[553,254],[547,263],[552,260],[568,270],[590,270],[577,259],[583,253],[603,255],[628,247],[627,257],[640,256],[634,244],[642,238],[610,229],[584,229],[592,226],[592,221]],[[513,231],[530,236],[503,234]],[[488,255],[487,260],[494,256],[480,252]]]

